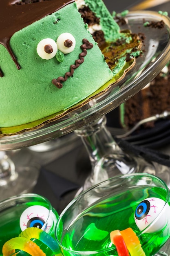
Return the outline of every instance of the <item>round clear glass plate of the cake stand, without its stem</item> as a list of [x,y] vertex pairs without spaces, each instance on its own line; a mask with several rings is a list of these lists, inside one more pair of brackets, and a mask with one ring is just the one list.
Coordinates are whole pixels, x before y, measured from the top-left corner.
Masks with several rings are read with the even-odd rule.
[[[126,18],[128,24],[121,26],[121,29],[130,29],[136,34],[143,33],[145,52],[142,57],[137,58],[135,67],[126,74],[124,79],[57,121],[17,136],[2,137],[0,150],[27,147],[72,132],[119,106],[139,92],[161,71],[170,60],[170,18],[153,11],[129,12]],[[145,21],[159,22],[160,20],[165,23],[162,29],[144,26]]]

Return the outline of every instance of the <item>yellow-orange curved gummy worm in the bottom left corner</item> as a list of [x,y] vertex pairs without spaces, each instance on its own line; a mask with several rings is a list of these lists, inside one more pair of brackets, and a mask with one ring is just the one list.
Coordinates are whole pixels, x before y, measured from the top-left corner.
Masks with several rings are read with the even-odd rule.
[[15,253],[15,249],[27,252],[32,256],[46,256],[38,245],[24,237],[15,237],[7,241],[2,247],[3,256],[10,256]]

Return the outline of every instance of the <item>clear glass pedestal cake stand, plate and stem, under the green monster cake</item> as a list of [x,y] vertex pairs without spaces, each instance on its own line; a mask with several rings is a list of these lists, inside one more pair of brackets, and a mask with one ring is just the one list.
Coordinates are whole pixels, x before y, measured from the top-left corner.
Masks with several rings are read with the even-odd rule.
[[[91,177],[82,190],[117,174],[141,172],[147,168],[154,170],[151,163],[135,159],[121,151],[106,128],[104,115],[144,88],[170,60],[170,18],[152,11],[133,11],[128,13],[126,19],[128,23],[122,25],[121,29],[144,34],[145,51],[142,57],[137,58],[135,66],[126,73],[124,79],[110,84],[108,90],[58,120],[17,136],[2,137],[0,150],[33,146],[75,131],[81,136],[92,164]],[[160,20],[165,23],[161,29],[144,26],[145,21]]]

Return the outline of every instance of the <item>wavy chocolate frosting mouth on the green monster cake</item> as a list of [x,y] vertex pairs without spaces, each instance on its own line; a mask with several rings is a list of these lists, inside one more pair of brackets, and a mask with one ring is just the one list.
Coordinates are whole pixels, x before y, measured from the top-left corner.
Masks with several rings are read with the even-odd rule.
[[57,79],[53,79],[52,83],[57,87],[57,88],[62,88],[62,83],[61,81],[66,81],[68,77],[73,76],[74,70],[79,67],[80,64],[84,62],[84,57],[87,55],[87,50],[86,49],[92,49],[93,44],[90,43],[87,39],[83,39],[83,45],[80,46],[82,48],[82,53],[79,54],[79,59],[75,61],[74,65],[71,65],[71,72],[66,72],[65,76],[59,76]]

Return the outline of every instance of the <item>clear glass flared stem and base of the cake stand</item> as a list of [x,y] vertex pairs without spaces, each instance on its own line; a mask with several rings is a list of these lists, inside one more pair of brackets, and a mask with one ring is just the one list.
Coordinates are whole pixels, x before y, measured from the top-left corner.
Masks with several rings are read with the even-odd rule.
[[91,161],[91,175],[76,196],[108,178],[129,173],[157,173],[157,167],[144,158],[125,153],[119,148],[106,127],[106,116],[75,130],[80,136]]

